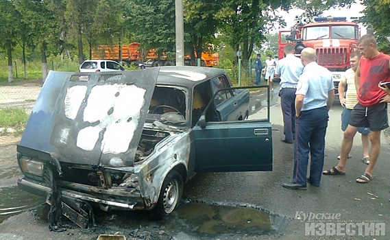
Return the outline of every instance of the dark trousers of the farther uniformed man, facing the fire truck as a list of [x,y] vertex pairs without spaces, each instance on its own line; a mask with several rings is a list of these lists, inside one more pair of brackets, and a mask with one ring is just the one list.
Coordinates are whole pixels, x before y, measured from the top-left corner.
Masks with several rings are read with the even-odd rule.
[[280,104],[282,105],[284,139],[293,142],[295,135],[295,91],[297,88],[282,88],[280,90]]

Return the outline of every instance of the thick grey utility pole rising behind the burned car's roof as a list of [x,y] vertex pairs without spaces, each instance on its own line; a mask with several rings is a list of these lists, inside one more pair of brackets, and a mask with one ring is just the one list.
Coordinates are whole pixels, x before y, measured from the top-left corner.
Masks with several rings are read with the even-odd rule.
[[184,65],[183,0],[175,0],[176,66]]

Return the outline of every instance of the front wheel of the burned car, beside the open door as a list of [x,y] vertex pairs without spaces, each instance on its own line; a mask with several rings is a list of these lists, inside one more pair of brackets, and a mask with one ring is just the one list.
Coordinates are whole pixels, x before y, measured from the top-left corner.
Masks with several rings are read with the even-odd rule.
[[162,183],[158,202],[150,211],[150,215],[153,219],[163,219],[175,210],[175,207],[182,198],[183,185],[183,178],[177,171],[168,173]]

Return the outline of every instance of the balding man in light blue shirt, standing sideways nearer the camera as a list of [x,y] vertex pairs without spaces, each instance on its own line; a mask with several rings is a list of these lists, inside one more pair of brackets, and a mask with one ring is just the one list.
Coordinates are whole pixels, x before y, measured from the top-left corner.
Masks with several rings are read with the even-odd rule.
[[[306,47],[301,53],[304,71],[295,92],[296,138],[293,181],[287,189],[306,190],[306,181],[319,187],[324,167],[325,134],[328,110],[334,100],[332,73],[316,62],[315,49]],[[310,175],[306,178],[310,152]]]

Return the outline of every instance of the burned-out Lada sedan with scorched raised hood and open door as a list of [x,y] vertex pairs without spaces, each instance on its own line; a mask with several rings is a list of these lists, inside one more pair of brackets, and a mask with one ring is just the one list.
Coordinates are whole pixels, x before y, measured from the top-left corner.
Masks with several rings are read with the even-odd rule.
[[18,185],[51,205],[57,192],[79,218],[72,202],[160,219],[196,172],[272,170],[271,123],[252,118],[252,92],[204,67],[51,71],[17,147]]

